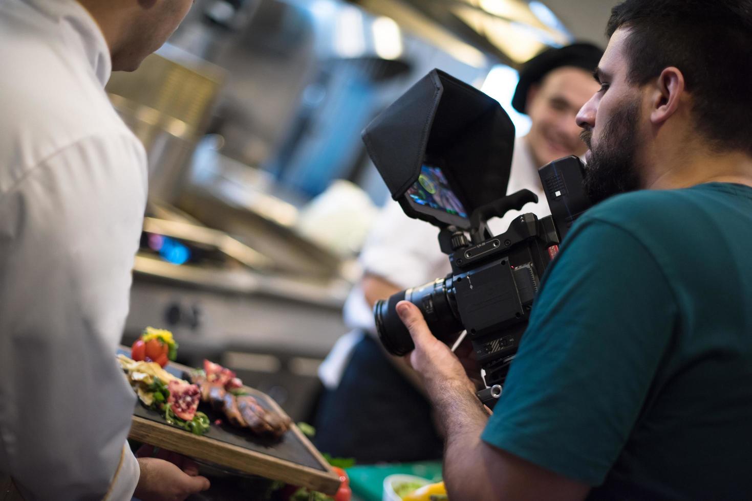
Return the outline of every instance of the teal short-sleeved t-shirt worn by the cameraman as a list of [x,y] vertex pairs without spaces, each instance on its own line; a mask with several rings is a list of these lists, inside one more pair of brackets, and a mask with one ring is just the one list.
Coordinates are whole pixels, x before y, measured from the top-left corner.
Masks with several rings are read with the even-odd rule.
[[752,188],[633,192],[582,216],[483,439],[590,499],[752,499]]

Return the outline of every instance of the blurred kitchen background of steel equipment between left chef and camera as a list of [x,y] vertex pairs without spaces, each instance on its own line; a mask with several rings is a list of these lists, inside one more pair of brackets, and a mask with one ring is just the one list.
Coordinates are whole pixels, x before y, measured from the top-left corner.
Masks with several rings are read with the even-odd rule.
[[356,257],[388,192],[362,128],[432,68],[511,109],[547,46],[605,47],[614,1],[198,0],[111,100],[144,142],[150,203],[123,343],[174,332],[293,419],[346,332]]

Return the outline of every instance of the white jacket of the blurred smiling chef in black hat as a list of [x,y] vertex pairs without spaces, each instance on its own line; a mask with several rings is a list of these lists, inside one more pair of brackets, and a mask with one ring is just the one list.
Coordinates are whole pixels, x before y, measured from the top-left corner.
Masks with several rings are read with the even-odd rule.
[[[514,140],[507,193],[511,195],[520,189],[529,189],[538,195],[538,202],[526,204],[521,211],[511,210],[503,218],[491,219],[491,233],[504,233],[520,214],[534,213],[539,218],[550,216],[538,167],[526,139],[517,137]],[[427,222],[405,216],[396,201],[388,201],[360,254],[363,272],[381,276],[400,288],[443,278],[451,267],[449,258],[438,246],[438,231]],[[359,285],[353,288],[344,303],[344,321],[353,331],[338,340],[319,370],[320,379],[330,389],[339,384],[352,349],[362,333],[375,334],[373,311]]]

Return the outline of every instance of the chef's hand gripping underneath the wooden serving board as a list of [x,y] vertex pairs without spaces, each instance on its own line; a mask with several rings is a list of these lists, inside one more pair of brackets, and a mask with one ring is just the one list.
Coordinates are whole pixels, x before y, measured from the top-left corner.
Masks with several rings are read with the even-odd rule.
[[133,495],[141,501],[183,501],[193,493],[210,487],[206,477],[192,460],[174,452],[160,450],[156,457],[153,447],[144,445],[136,453],[141,477]]

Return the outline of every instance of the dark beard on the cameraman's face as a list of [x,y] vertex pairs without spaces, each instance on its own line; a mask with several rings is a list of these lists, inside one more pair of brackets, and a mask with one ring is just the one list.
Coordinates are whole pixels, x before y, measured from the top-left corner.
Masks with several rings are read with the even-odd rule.
[[593,148],[593,131],[582,131],[580,137],[590,149],[583,185],[593,204],[613,195],[632,192],[640,187],[635,162],[637,122],[640,116],[638,101],[631,101],[614,113],[605,125],[598,144]]

